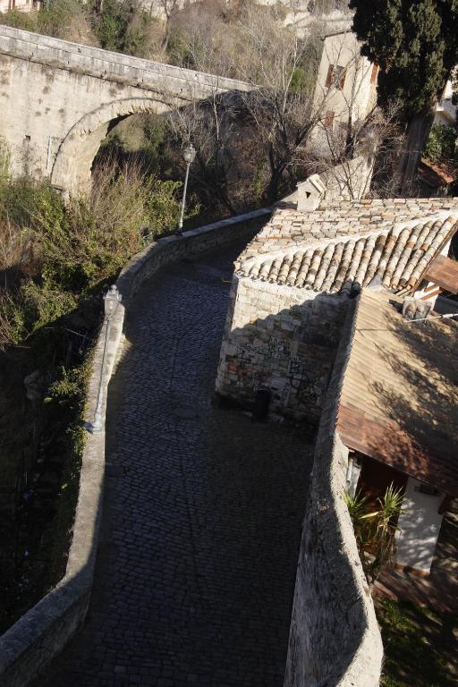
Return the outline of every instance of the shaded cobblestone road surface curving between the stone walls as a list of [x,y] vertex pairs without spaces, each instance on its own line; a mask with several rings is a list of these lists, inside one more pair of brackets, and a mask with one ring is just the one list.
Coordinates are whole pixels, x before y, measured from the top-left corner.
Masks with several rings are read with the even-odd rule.
[[310,446],[214,403],[236,254],[138,294],[110,390],[88,622],[42,687],[283,683]]

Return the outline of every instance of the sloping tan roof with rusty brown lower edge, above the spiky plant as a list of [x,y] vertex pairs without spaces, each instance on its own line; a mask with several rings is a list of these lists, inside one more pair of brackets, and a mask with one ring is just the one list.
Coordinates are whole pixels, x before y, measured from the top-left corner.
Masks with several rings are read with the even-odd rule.
[[401,303],[361,293],[337,430],[350,448],[458,496],[458,324],[412,323]]

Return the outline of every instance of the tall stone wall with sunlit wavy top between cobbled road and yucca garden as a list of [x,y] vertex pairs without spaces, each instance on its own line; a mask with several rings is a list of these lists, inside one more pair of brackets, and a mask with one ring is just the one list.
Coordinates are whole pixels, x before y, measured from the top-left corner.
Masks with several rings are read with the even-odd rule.
[[353,304],[321,416],[305,515],[284,687],[376,687],[383,646],[344,504],[348,450],[335,431]]

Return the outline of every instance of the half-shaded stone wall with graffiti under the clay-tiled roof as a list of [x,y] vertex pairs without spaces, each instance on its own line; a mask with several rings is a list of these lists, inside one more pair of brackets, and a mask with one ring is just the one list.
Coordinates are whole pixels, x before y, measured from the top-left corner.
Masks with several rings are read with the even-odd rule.
[[266,386],[270,411],[316,424],[346,303],[346,295],[234,276],[216,391],[250,407]]

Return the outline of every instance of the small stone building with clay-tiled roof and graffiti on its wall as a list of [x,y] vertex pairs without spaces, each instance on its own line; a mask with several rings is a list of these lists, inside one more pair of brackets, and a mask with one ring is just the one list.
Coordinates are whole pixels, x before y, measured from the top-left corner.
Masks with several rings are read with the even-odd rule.
[[237,259],[217,392],[250,407],[266,387],[271,412],[316,425],[349,299],[377,284],[428,298],[457,228],[453,198],[281,203]]

